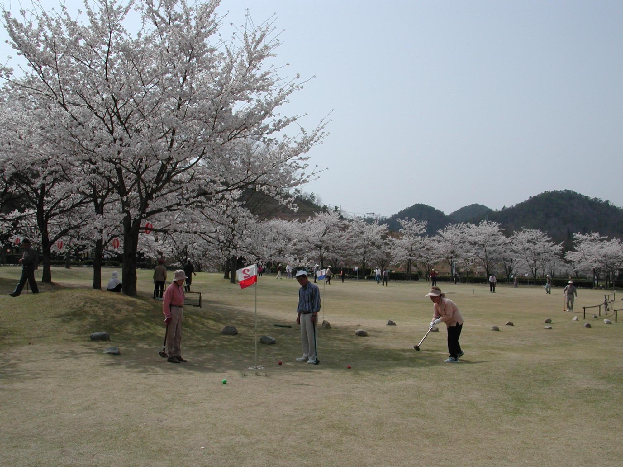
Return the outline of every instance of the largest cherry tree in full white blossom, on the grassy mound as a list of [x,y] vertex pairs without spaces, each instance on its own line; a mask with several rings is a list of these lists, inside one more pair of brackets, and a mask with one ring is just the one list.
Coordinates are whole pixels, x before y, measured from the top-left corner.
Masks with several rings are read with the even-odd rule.
[[[85,0],[87,22],[34,2],[3,9],[10,43],[29,65],[2,68],[11,93],[47,109],[62,147],[110,184],[123,215],[123,292],[136,294],[145,222],[250,185],[279,196],[307,181],[305,154],[323,136],[283,134],[298,116],[276,111],[302,87],[266,64],[279,42],[250,19],[229,41],[217,1]],[[141,30],[125,27],[134,8]],[[156,224],[154,224],[158,227]]]

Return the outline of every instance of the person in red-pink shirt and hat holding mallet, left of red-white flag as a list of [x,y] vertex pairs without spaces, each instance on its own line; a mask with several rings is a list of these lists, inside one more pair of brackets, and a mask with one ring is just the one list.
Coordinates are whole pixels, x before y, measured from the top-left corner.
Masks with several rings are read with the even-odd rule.
[[166,329],[166,350],[168,362],[186,362],[182,358],[182,321],[184,320],[184,280],[186,273],[183,269],[174,272],[173,282],[164,291],[162,312]]

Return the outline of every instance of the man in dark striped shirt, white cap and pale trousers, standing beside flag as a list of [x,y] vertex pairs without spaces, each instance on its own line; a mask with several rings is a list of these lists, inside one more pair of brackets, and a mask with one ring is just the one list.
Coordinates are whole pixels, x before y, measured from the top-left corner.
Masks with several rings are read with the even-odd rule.
[[320,289],[307,278],[307,272],[300,270],[296,275],[301,286],[298,289],[297,324],[301,326],[301,345],[303,356],[297,362],[318,364],[318,311],[320,311]]

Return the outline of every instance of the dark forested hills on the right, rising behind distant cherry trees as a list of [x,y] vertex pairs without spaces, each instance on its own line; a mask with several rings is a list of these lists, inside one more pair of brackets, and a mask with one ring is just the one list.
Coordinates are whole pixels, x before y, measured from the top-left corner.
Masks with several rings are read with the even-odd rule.
[[478,224],[488,216],[489,220],[500,222],[507,234],[521,227],[541,229],[554,242],[564,242],[571,247],[574,232],[599,232],[608,237],[623,237],[623,209],[609,201],[590,198],[574,191],[546,191],[531,196],[524,202],[501,210],[491,210],[482,204],[470,204],[445,215],[426,204],[414,204],[389,217],[386,222],[390,230],[399,230],[398,219],[412,219],[429,222],[428,234],[456,222]]

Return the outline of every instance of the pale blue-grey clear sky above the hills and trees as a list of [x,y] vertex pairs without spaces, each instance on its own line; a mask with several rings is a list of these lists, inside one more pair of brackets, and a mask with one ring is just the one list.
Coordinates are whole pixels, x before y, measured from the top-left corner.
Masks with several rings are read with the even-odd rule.
[[331,112],[330,135],[310,153],[328,170],[303,188],[325,204],[391,215],[424,203],[449,214],[571,189],[623,205],[622,1],[219,7],[235,24],[245,9],[256,23],[277,14],[288,75],[315,75],[288,113],[307,113],[312,128]]

